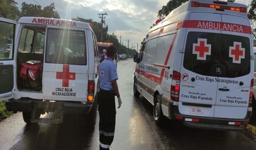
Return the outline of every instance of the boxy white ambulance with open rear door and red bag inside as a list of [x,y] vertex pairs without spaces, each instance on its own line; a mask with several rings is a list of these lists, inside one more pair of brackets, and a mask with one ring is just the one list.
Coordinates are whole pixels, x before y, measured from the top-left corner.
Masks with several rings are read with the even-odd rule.
[[[62,123],[64,114],[77,114],[94,126],[99,52],[91,24],[43,17],[21,17],[16,24],[1,18],[0,29],[0,45],[12,39],[9,56],[0,57],[6,109],[22,112],[26,123]],[[38,62],[41,68],[33,70]],[[41,115],[45,112],[54,117]]]

